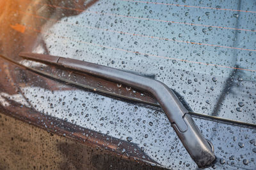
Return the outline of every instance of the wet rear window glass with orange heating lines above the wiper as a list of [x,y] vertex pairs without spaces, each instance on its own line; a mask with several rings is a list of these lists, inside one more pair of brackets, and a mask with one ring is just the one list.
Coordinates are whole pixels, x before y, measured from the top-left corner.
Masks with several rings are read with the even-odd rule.
[[1,3],[1,55],[46,53],[149,74],[196,113],[256,123],[255,1]]

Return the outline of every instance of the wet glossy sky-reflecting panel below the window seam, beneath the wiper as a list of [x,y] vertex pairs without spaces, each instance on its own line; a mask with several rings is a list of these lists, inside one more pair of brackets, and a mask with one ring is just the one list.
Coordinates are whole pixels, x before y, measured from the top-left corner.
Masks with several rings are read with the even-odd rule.
[[[1,83],[0,110],[18,117],[26,115],[29,122],[32,120],[47,131],[70,138],[79,136],[83,142],[95,143],[99,149],[118,152],[130,159],[170,169],[197,168],[159,108],[65,85],[6,60],[0,61],[0,66],[0,73],[4,74],[1,82],[8,80]],[[15,71],[10,73],[10,70]],[[255,128],[203,118],[194,120],[214,145],[217,159],[207,169],[255,167]]]

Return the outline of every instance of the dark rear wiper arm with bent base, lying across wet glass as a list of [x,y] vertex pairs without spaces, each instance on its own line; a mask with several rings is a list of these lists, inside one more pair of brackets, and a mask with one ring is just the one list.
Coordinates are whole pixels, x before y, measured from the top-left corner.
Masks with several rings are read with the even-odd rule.
[[166,113],[180,141],[198,167],[209,166],[215,160],[213,148],[202,136],[195,122],[188,114],[188,110],[180,103],[173,90],[170,90],[164,83],[119,69],[76,59],[26,52],[21,52],[19,55],[29,60],[57,64],[76,71],[82,71],[83,73],[89,73],[93,76],[99,76],[106,80],[122,83],[138,90],[150,92],[156,97],[157,102],[164,110],[164,113]]

